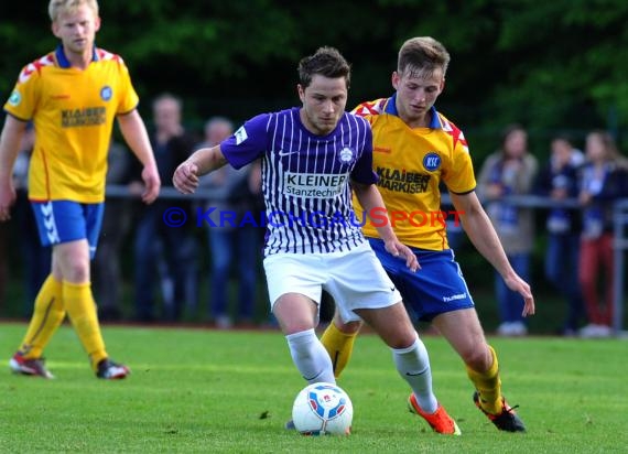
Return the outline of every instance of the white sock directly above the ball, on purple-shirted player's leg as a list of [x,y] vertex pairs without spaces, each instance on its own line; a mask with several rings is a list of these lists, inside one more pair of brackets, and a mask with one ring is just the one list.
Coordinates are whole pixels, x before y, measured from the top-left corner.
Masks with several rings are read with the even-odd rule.
[[321,344],[314,329],[289,334],[285,338],[292,360],[307,382],[336,382],[332,358],[329,358],[329,354]]

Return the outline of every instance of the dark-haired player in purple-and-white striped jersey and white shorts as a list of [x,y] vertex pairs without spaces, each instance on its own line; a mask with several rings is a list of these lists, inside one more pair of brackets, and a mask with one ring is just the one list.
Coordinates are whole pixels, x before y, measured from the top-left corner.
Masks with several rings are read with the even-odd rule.
[[[365,240],[361,219],[355,219],[351,190],[366,213],[385,208],[371,169],[368,121],[345,112],[350,67],[337,50],[321,47],[301,60],[299,78],[301,107],[259,115],[219,145],[196,151],[177,167],[174,186],[190,194],[201,175],[261,160],[270,304],[303,378],[336,382],[329,355],[314,332],[326,290],[343,321],[364,320],[391,348],[430,425],[459,434],[432,391],[427,352],[399,291]],[[380,223],[378,233],[392,259],[416,270],[414,255],[399,242],[390,223]]]

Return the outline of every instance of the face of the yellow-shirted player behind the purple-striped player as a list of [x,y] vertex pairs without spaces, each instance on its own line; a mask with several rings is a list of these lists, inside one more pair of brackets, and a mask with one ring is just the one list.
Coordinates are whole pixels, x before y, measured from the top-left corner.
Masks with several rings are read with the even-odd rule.
[[397,89],[397,111],[411,127],[429,125],[430,109],[445,87],[441,69],[422,73],[408,68],[403,74],[392,73],[392,86]]

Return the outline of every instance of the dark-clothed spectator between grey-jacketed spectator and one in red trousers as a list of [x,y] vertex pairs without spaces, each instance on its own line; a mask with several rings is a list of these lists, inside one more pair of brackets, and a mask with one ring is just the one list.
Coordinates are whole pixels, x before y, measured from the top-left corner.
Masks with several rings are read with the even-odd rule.
[[[554,137],[551,142],[550,160],[541,170],[537,181],[537,193],[555,202],[577,197],[577,165],[582,163],[577,158],[580,154],[582,152],[573,147],[567,136]],[[563,207],[551,208],[548,213],[546,228],[549,235],[545,277],[567,303],[566,316],[560,333],[573,336],[577,334],[581,322],[586,320],[578,282],[578,213]]]

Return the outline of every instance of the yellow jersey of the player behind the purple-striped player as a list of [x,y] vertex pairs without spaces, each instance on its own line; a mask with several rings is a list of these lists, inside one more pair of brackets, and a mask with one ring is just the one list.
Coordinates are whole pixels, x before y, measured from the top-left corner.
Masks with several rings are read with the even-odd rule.
[[[426,249],[448,249],[446,220],[457,214],[441,207],[441,182],[456,194],[475,190],[476,181],[463,132],[434,107],[427,128],[410,128],[397,112],[396,96],[362,102],[353,114],[371,125],[372,165],[379,192],[401,242]],[[357,219],[365,217],[354,196]],[[375,226],[382,214],[362,220],[364,234],[378,238]]]

